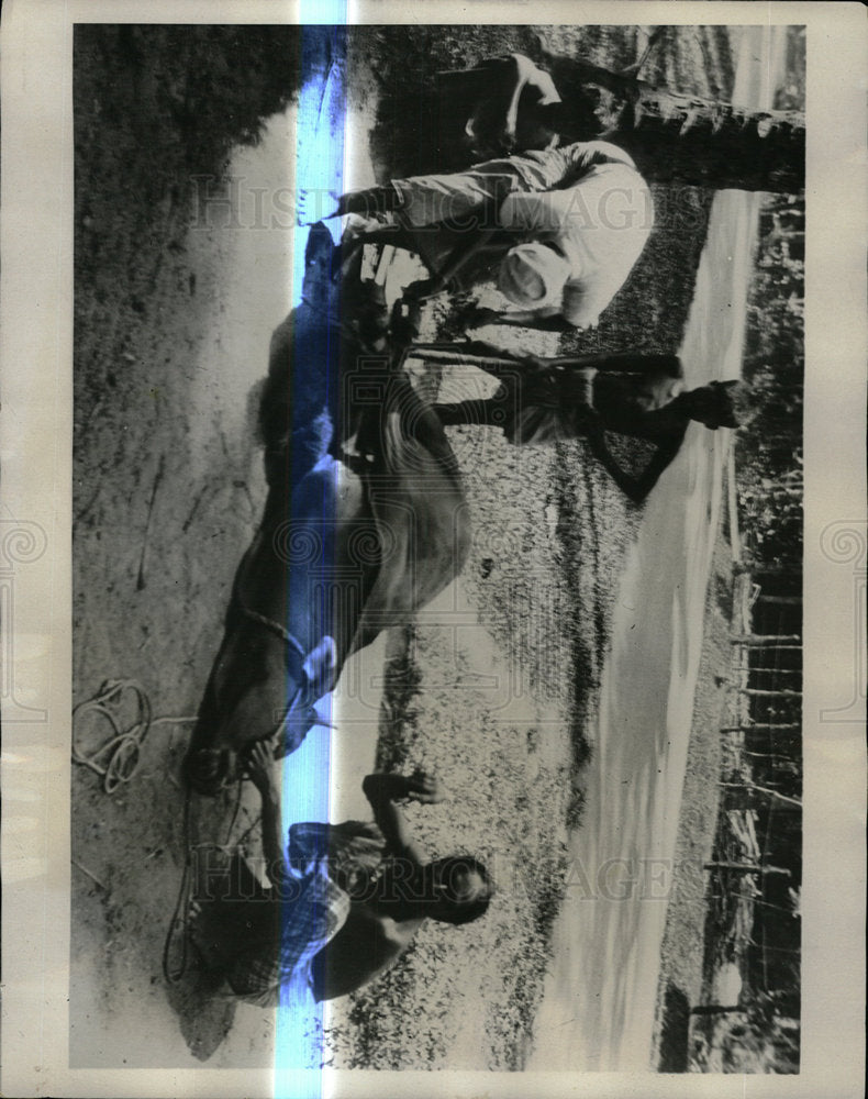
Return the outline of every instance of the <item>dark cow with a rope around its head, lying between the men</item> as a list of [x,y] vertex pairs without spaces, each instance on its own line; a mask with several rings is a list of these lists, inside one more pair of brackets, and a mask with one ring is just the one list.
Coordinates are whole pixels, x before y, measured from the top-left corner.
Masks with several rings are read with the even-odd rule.
[[455,455],[400,369],[418,307],[399,301],[390,319],[360,252],[335,279],[326,236],[311,233],[302,301],[271,338],[268,493],[185,758],[207,796],[243,774],[253,743],[294,751],[348,657],[407,623],[469,550]]

